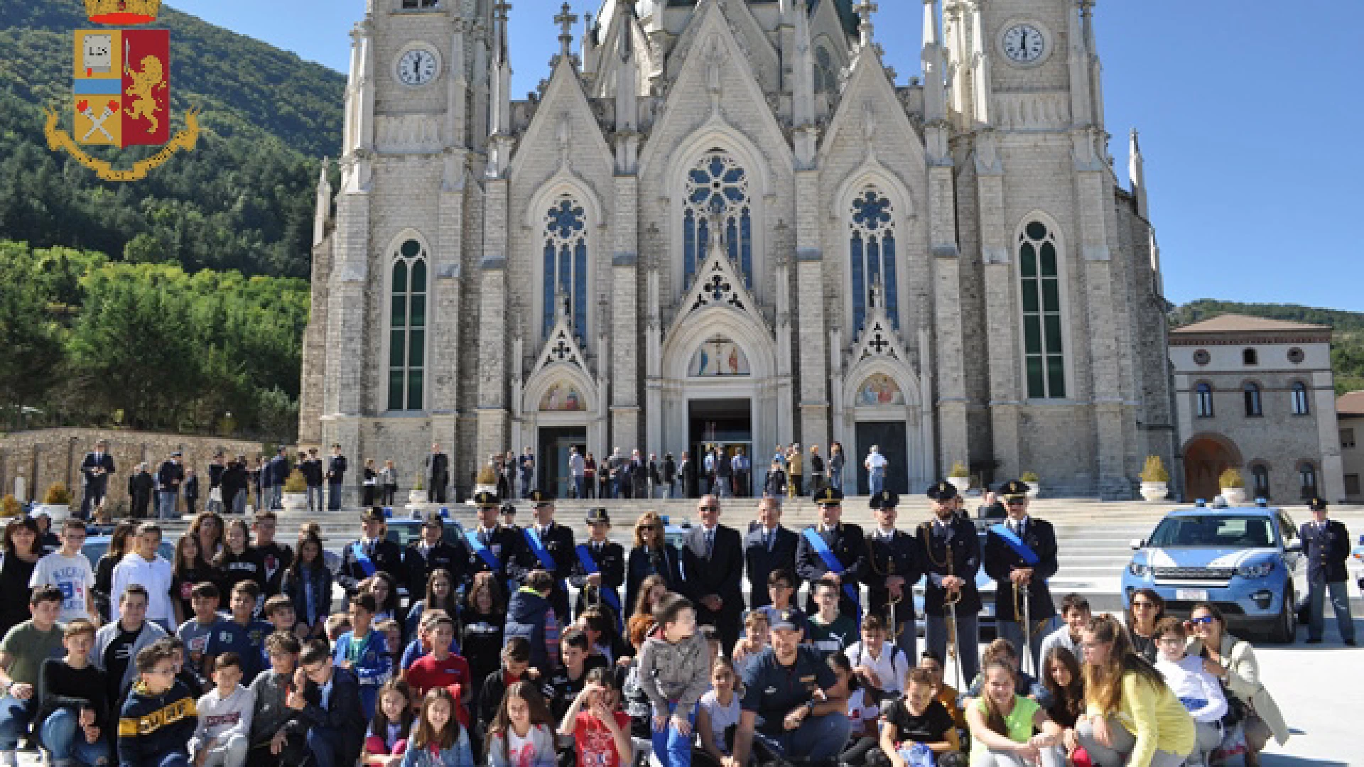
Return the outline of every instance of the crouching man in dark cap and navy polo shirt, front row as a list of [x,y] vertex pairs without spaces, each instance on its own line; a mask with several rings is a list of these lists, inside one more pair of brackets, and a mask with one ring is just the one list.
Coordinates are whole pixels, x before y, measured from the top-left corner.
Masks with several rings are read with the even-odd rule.
[[832,760],[848,740],[848,691],[821,652],[801,644],[795,613],[782,610],[772,644],[743,667],[734,763],[773,759]]

